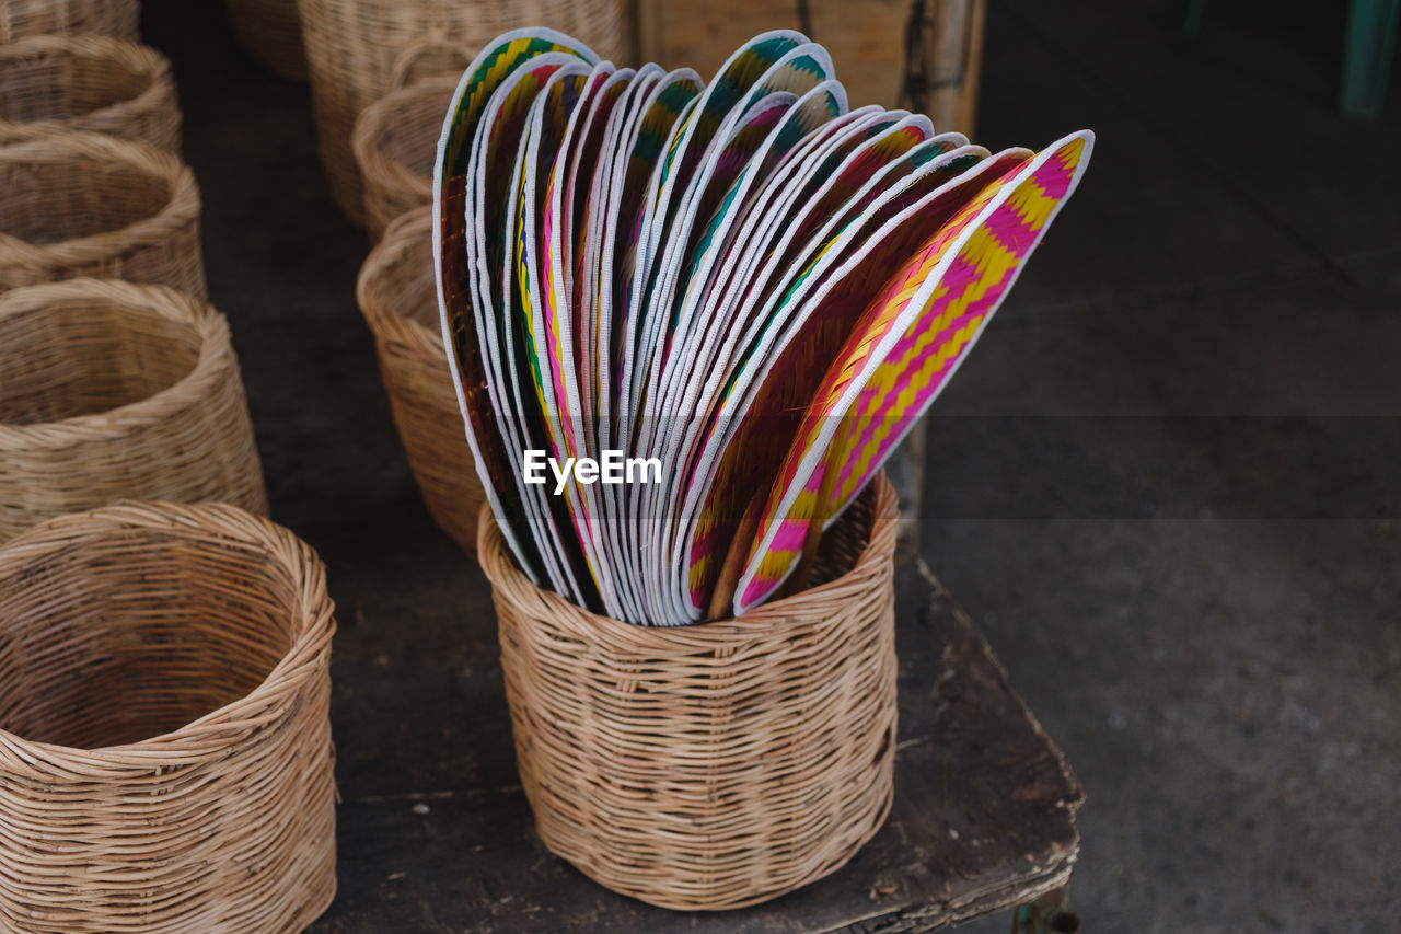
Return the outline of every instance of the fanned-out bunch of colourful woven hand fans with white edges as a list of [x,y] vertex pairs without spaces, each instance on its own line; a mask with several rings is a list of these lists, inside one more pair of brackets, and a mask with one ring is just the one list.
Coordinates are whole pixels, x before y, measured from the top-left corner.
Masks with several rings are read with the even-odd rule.
[[848,109],[797,32],[709,86],[500,36],[443,128],[434,245],[521,569],[649,625],[772,596],[967,356],[1091,144],[992,154]]

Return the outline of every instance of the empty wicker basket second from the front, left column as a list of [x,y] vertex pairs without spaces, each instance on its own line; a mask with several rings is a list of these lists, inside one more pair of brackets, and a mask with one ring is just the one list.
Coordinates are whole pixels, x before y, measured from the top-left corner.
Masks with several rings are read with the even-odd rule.
[[0,541],[125,498],[266,512],[224,316],[116,280],[0,295]]

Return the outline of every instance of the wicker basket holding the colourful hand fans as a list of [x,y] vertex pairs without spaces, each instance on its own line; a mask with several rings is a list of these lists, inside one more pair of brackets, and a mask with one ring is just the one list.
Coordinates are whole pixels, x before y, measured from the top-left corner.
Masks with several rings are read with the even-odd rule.
[[653,628],[531,585],[483,509],[478,558],[545,846],[671,909],[754,905],[850,860],[891,802],[897,520],[881,477],[828,530],[827,583]]

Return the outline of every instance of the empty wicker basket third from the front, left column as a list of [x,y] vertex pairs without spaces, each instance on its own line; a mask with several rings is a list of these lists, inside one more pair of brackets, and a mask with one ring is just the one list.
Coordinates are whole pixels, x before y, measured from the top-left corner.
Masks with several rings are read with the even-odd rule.
[[0,126],[0,290],[77,276],[203,297],[195,175],[147,143]]

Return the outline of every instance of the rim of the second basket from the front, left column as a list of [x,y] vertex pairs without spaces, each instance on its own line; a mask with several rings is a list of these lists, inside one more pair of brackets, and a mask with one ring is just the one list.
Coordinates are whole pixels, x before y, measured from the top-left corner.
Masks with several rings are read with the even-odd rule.
[[77,299],[109,300],[118,310],[154,311],[199,338],[199,355],[185,376],[150,395],[52,422],[15,425],[0,421],[0,450],[34,450],[120,438],[165,418],[189,400],[202,398],[212,383],[224,379],[223,362],[233,351],[228,321],[212,304],[163,285],[122,279],[62,279],[0,292],[0,323],[35,310],[62,310]]

